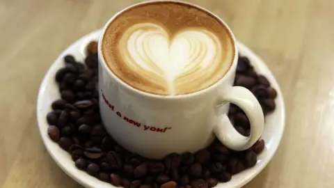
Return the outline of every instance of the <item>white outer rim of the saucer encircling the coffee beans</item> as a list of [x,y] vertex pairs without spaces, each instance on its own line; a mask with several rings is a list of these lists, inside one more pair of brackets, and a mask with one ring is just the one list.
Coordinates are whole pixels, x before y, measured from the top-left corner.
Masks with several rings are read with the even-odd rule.
[[[40,136],[42,137],[42,141],[45,145],[45,147],[47,148],[47,151],[49,152],[49,154],[51,155],[51,158],[56,162],[56,164],[67,174],[70,176],[70,178],[72,178],[73,180],[75,180],[76,182],[78,182],[79,184],[83,185],[84,187],[89,187],[89,188],[94,188],[94,187],[102,187],[102,188],[111,188],[114,187],[113,185],[106,183],[106,182],[102,182],[100,180],[98,180],[97,178],[88,175],[86,172],[84,171],[80,171],[79,169],[77,169],[74,165],[74,162],[72,161],[70,155],[68,154],[68,152],[66,152],[65,150],[63,150],[62,148],[60,148],[58,146],[57,143],[54,143],[54,141],[51,141],[51,139],[49,139],[49,136],[47,134],[47,127],[49,126],[47,124],[46,118],[45,116],[43,116],[43,112],[45,112],[46,110],[50,111],[51,107],[49,109],[45,109],[45,90],[47,88],[47,86],[50,83],[50,80],[54,80],[50,77],[54,77],[54,75],[52,75],[52,73],[54,73],[56,71],[56,69],[58,70],[57,66],[59,65],[60,62],[62,62],[62,58],[63,56],[65,56],[66,54],[68,54],[70,51],[70,49],[74,49],[77,48],[76,50],[79,50],[81,56],[86,56],[86,43],[88,43],[90,40],[98,40],[100,33],[101,33],[102,29],[99,29],[97,31],[93,31],[91,33],[88,33],[85,36],[82,36],[81,38],[79,38],[77,41],[73,42],[69,47],[67,47],[57,58],[56,60],[51,64],[51,66],[49,67],[49,69],[47,70],[45,77],[43,77],[42,82],[40,84],[40,88],[38,91],[38,101],[37,101],[37,109],[36,109],[36,115],[37,115],[37,119],[38,119],[38,129],[40,130]],[[86,42],[86,43],[85,43]],[[267,164],[271,161],[273,155],[275,155],[276,150],[278,149],[278,147],[280,146],[280,141],[283,137],[283,133],[285,130],[285,103],[283,100],[283,95],[282,92],[280,90],[280,87],[278,85],[278,82],[276,81],[275,77],[273,77],[272,72],[269,70],[269,68],[267,67],[267,65],[264,63],[264,61],[257,56],[254,52],[252,52],[248,47],[246,47],[246,45],[242,44],[241,42],[237,41],[237,47],[239,49],[239,52],[243,55],[246,56],[250,59],[252,59],[253,61],[251,61],[251,63],[257,64],[257,66],[260,66],[262,71],[260,72],[260,74],[264,74],[264,72],[266,74],[266,76],[268,76],[269,81],[271,82],[271,84],[273,85],[274,88],[276,88],[276,91],[278,93],[278,97],[276,98],[276,104],[278,104],[280,106],[280,113],[278,115],[280,115],[280,132],[275,132],[276,135],[276,140],[274,141],[274,148],[271,149],[271,152],[267,153],[266,152],[266,156],[262,156],[265,157],[265,160],[259,162],[257,161],[257,164],[251,168],[251,169],[247,169],[246,171],[243,171],[239,174],[237,174],[236,176],[241,176],[241,180],[240,181],[236,181],[234,180],[234,175],[232,177],[232,180],[230,180],[230,182],[226,182],[226,183],[219,183],[216,187],[242,187],[244,185],[246,185],[248,182],[250,182],[250,180],[253,180],[253,178],[255,178],[256,175],[258,175],[265,166],[267,166]],[[256,68],[255,68],[256,69]],[[58,93],[58,90],[56,90],[56,92]],[[50,101],[49,101],[50,102]],[[49,104],[49,106],[51,106],[51,103]],[[276,109],[278,110],[278,109]],[[47,112],[46,112],[47,113]],[[271,134],[273,135],[273,134]],[[266,148],[267,148],[267,142],[266,142]],[[58,155],[57,152],[61,152],[61,155]],[[67,157],[62,157],[64,155],[68,155]],[[264,154],[260,154],[260,155],[264,155]],[[65,160],[65,161],[64,161]],[[70,160],[70,162],[68,161]],[[67,164],[72,164],[72,166],[67,166],[65,165],[65,163]],[[243,178],[242,178],[243,177]],[[240,178],[237,178],[240,179]]]

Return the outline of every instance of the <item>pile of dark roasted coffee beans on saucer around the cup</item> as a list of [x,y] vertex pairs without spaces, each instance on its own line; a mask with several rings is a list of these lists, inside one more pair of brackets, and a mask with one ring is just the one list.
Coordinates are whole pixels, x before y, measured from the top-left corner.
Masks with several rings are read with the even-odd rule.
[[[255,166],[264,149],[263,140],[237,152],[215,139],[196,153],[171,153],[161,160],[146,159],[122,148],[107,134],[100,118],[97,43],[90,42],[87,49],[84,63],[65,56],[65,66],[55,77],[61,99],[51,104],[52,111],[47,114],[50,139],[72,155],[78,169],[116,187],[197,188],[228,182],[232,175]],[[246,57],[239,57],[234,84],[249,88],[264,114],[275,109],[275,89],[266,77],[257,75]],[[229,117],[241,134],[249,135],[248,118],[241,109],[232,105]]]

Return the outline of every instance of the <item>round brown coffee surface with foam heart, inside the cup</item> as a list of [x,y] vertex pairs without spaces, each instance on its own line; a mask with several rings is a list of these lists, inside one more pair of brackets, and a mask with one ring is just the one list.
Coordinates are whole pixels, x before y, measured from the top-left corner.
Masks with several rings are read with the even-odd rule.
[[102,55],[133,88],[184,95],[212,86],[230,68],[234,43],[213,15],[179,2],[151,2],[120,13],[107,26]]

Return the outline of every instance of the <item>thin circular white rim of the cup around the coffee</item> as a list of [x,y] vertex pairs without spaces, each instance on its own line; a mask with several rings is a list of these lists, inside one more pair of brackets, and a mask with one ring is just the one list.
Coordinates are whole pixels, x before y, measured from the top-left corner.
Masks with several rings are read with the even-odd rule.
[[[104,56],[102,55],[102,40],[104,39],[104,33],[106,32],[106,29],[108,29],[111,22],[113,22],[113,20],[116,19],[116,17],[118,17],[119,15],[121,15],[122,13],[124,13],[125,11],[127,11],[131,8],[134,8],[136,6],[145,5],[145,4],[159,3],[159,2],[181,3],[181,4],[184,4],[184,5],[187,5],[187,6],[192,6],[194,8],[198,8],[199,10],[203,10],[206,13],[212,15],[214,18],[217,19],[218,22],[221,22],[221,24],[223,24],[223,26],[225,26],[225,28],[228,31],[228,33],[230,34],[230,37],[231,37],[232,42],[233,42],[232,46],[234,48],[234,54],[233,54],[232,63],[230,64],[230,68],[227,70],[225,75],[223,77],[221,77],[221,79],[216,81],[211,86],[209,86],[207,88],[204,88],[204,89],[201,89],[200,91],[193,92],[193,93],[186,93],[186,94],[182,94],[182,95],[158,95],[158,94],[154,94],[154,93],[148,93],[148,92],[145,92],[145,91],[141,91],[137,88],[134,88],[134,87],[130,86],[129,84],[125,83],[125,81],[120,79],[120,77],[118,77],[115,73],[113,73],[113,71],[110,70],[108,65],[106,65],[106,60],[104,59]],[[106,22],[106,24],[104,25],[104,27],[102,29],[102,34],[99,38],[98,45],[97,45],[97,54],[99,55],[99,57],[98,57],[99,61],[100,61],[99,63],[102,63],[102,65],[104,66],[104,69],[106,69],[106,71],[109,73],[109,76],[111,76],[113,79],[115,79],[124,88],[127,88],[127,90],[132,91],[133,93],[136,93],[136,94],[141,95],[143,97],[153,97],[153,98],[156,98],[156,99],[164,99],[164,100],[180,100],[180,99],[184,99],[184,98],[188,98],[188,97],[196,97],[196,96],[202,95],[204,93],[208,93],[209,91],[212,91],[214,88],[221,85],[221,83],[223,81],[225,81],[226,77],[229,77],[231,74],[233,74],[233,71],[237,68],[237,61],[238,61],[238,54],[239,53],[238,53],[238,48],[237,48],[237,40],[236,40],[234,34],[232,33],[232,30],[230,29],[230,26],[228,26],[228,24],[226,24],[226,22],[223,19],[221,19],[221,17],[218,17],[218,15],[212,13],[212,11],[207,10],[206,8],[203,8],[202,6],[198,6],[194,3],[189,3],[189,2],[179,1],[179,0],[152,0],[152,1],[143,1],[143,2],[140,2],[140,3],[134,3],[132,6],[127,6],[126,8],[123,8],[122,10],[118,11],[118,13],[113,15],[113,17],[111,17],[108,20],[108,22]]]

